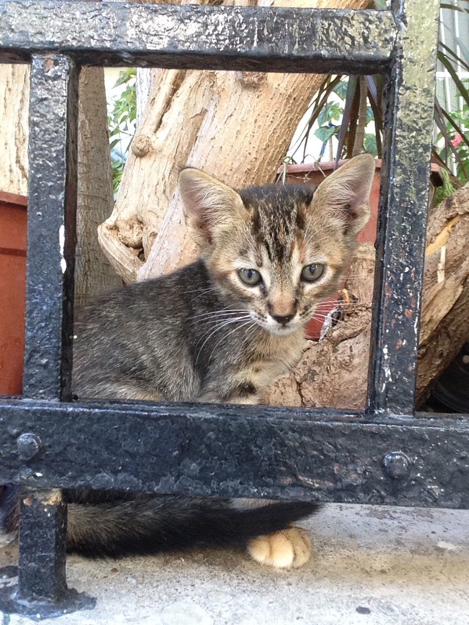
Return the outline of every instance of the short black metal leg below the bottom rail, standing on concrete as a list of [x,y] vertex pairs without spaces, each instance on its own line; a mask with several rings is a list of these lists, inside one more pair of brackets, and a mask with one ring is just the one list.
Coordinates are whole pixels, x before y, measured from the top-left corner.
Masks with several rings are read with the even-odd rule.
[[67,506],[59,489],[29,489],[21,494],[18,599],[63,600]]

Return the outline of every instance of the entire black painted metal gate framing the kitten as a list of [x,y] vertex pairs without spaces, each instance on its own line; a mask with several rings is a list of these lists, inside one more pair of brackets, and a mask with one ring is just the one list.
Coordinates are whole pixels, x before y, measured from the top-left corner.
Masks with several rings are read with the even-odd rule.
[[[66,587],[63,487],[469,507],[469,415],[413,414],[438,4],[1,2],[0,62],[31,64],[24,395],[0,398],[0,483],[24,488],[18,590],[4,609],[46,616],[91,601]],[[71,402],[82,64],[384,74],[364,413]]]

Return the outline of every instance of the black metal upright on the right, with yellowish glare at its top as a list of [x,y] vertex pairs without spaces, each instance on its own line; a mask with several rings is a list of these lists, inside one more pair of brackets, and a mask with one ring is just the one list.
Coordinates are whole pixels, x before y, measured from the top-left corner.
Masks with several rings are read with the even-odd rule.
[[368,409],[414,409],[435,102],[438,0],[394,0],[386,89]]

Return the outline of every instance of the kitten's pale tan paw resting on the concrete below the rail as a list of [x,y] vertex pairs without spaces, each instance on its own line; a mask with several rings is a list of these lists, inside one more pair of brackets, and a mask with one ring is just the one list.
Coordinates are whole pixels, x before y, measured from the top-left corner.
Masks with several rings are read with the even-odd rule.
[[267,536],[256,536],[248,543],[256,562],[277,569],[296,569],[311,556],[311,538],[302,527],[290,527]]

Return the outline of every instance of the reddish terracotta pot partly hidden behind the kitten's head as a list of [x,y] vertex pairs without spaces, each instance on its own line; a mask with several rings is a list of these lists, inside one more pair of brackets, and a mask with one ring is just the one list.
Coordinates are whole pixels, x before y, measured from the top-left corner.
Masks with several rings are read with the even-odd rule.
[[[339,161],[340,167],[346,161]],[[286,168],[287,184],[311,184],[318,186],[326,176],[334,171],[334,161],[326,161],[325,163],[290,165]],[[279,178],[283,176],[283,167],[278,169]],[[438,165],[431,165],[431,187],[441,186],[441,174]],[[375,177],[371,186],[370,208],[371,216],[365,229],[363,229],[357,237],[359,243],[374,243],[376,241],[376,224],[378,222],[378,206],[380,202],[380,184],[381,184],[381,159],[376,159]],[[433,198],[433,193],[430,193]],[[330,300],[321,303],[321,316],[327,315],[335,307],[333,300],[337,299],[338,294],[335,293]],[[321,336],[324,322],[320,319],[311,319],[306,326],[306,338],[318,340]]]

